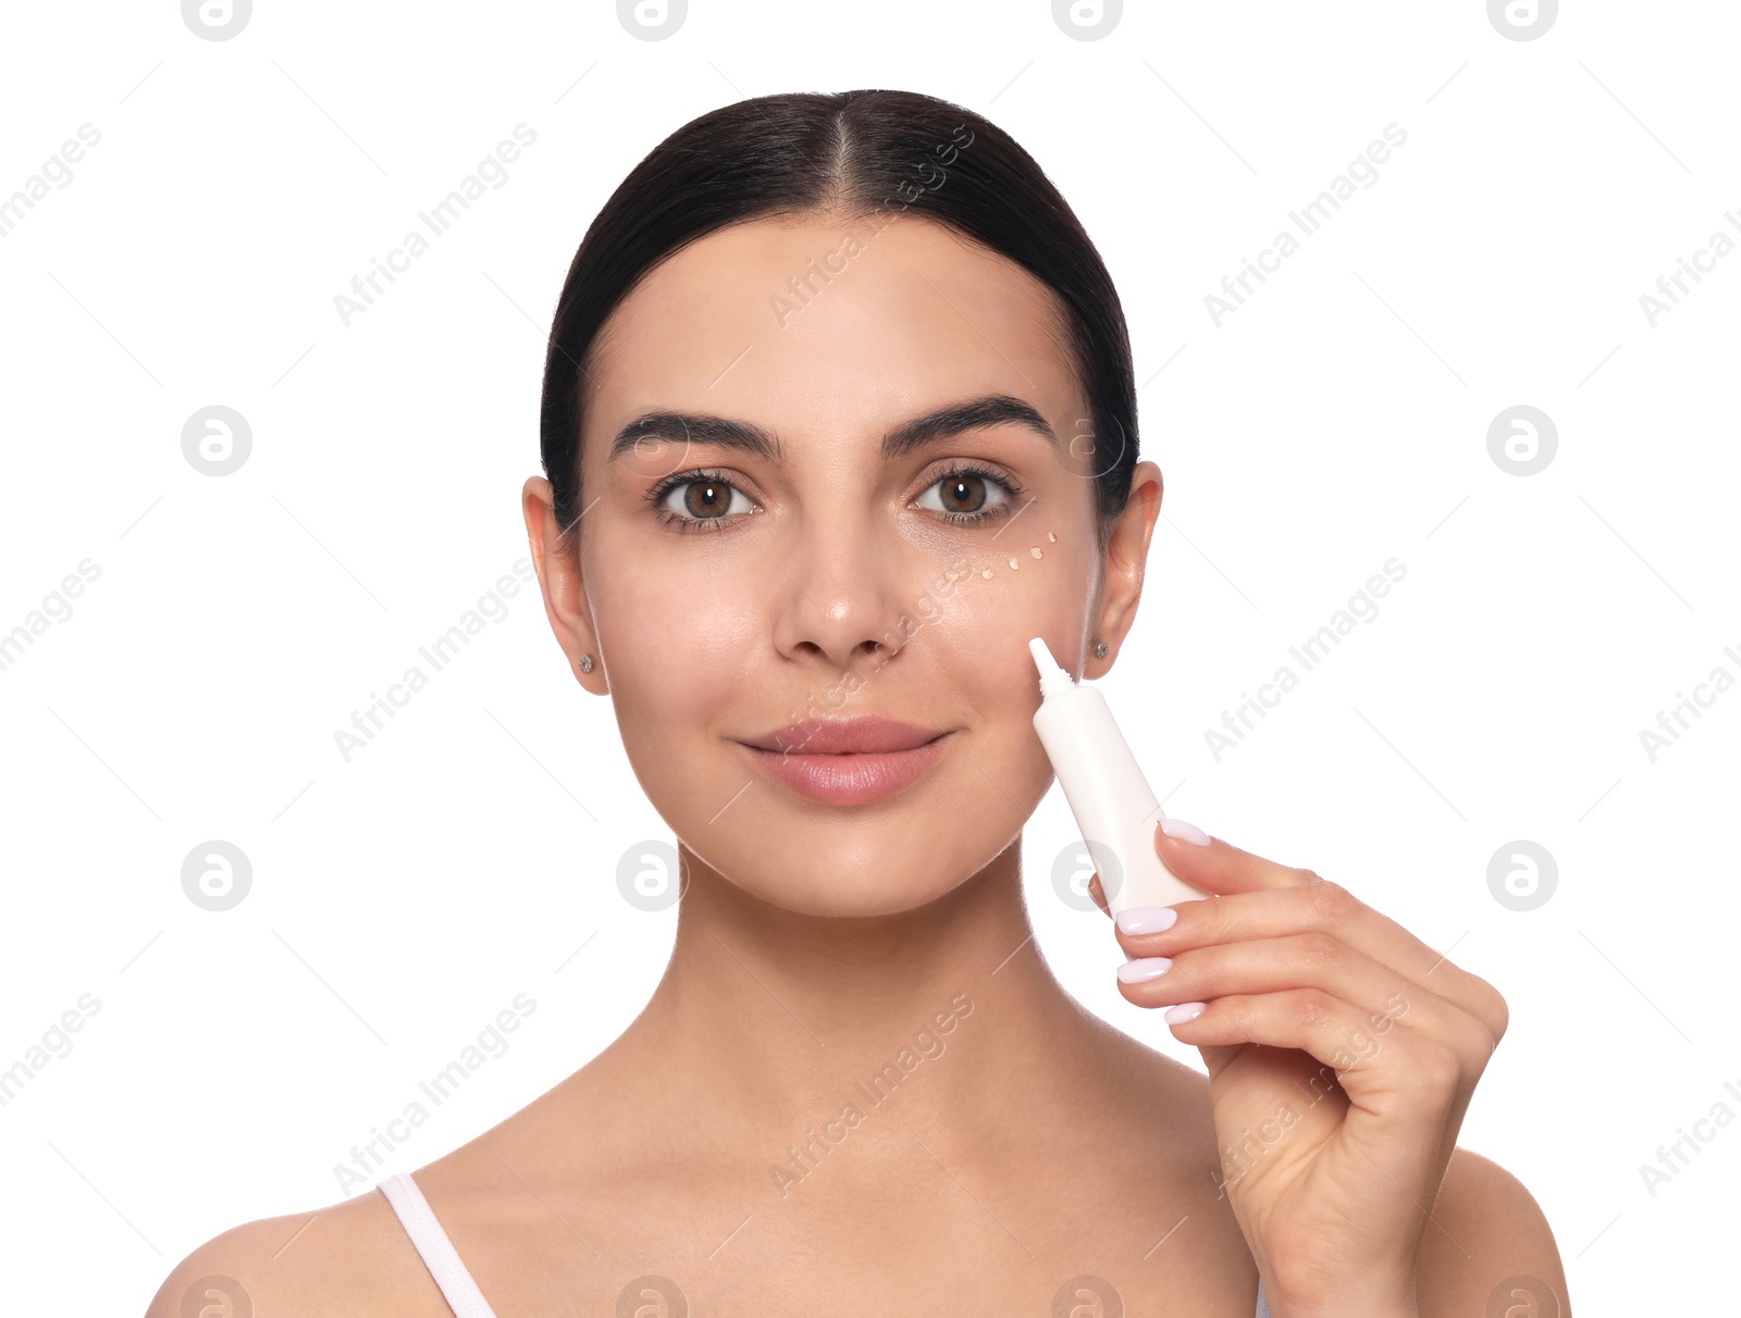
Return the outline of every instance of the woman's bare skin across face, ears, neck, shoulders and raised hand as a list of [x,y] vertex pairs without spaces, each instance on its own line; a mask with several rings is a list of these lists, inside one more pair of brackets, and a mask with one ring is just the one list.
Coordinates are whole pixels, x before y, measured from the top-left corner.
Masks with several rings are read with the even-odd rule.
[[[1483,981],[1311,871],[1160,833],[1180,878],[1224,895],[1182,902],[1165,934],[1116,934],[1173,960],[1121,993],[1208,1000],[1175,1033],[1203,1045],[1210,1078],[1083,1010],[1039,958],[1020,829],[1052,770],[1025,643],[1043,636],[1086,678],[1112,666],[1161,475],[1139,464],[1097,549],[1090,457],[1067,443],[1088,405],[1055,296],[930,221],[883,228],[780,327],[770,296],[846,226],[757,221],[663,263],[588,362],[578,546],[548,483],[526,482],[550,626],[576,682],[609,694],[686,887],[665,977],[629,1029],[416,1170],[479,1287],[503,1318],[613,1313],[648,1273],[695,1313],[850,1318],[940,1295],[1048,1313],[1093,1275],[1132,1313],[1248,1318],[1262,1269],[1278,1318],[1450,1318],[1530,1275],[1569,1313],[1536,1202],[1455,1148],[1504,1031]],[[985,395],[1025,402],[1060,445],[1003,423],[883,457],[900,423]],[[651,409],[754,423],[783,454],[649,431],[609,459]],[[973,485],[1005,511],[949,523],[938,480],[963,461],[1020,499]],[[649,490],[693,466],[736,490],[729,525],[653,515]],[[843,676],[858,682],[841,713],[951,732],[926,777],[874,805],[799,798],[735,744]],[[1109,939],[1107,974],[1121,962]],[[1313,1054],[1372,1033],[1395,991],[1410,1007],[1370,1057],[1219,1193],[1220,1149],[1318,1073]],[[902,1048],[924,1057],[872,1106],[855,1082]],[[862,1120],[844,1125],[855,1099]],[[787,1149],[830,1122],[839,1142],[792,1179]],[[216,1236],[148,1318],[179,1315],[207,1275],[242,1281],[259,1315],[447,1315],[376,1193]]]

